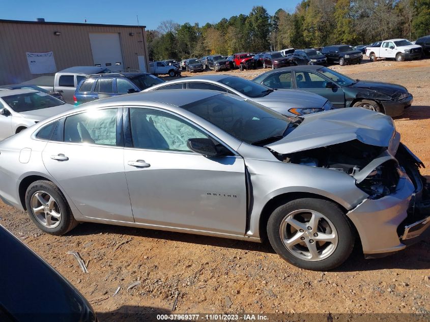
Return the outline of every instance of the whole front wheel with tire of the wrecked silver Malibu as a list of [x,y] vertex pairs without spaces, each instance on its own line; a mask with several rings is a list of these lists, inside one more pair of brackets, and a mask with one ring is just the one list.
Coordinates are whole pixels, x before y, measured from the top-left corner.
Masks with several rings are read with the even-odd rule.
[[350,256],[355,236],[340,207],[328,200],[302,198],[279,206],[269,217],[273,249],[290,264],[328,271]]

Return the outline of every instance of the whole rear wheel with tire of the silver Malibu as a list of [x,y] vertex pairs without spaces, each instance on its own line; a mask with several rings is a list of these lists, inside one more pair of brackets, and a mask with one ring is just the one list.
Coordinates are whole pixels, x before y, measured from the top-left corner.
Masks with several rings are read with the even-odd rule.
[[50,181],[32,183],[25,192],[25,206],[36,226],[50,235],[64,235],[78,224],[65,196]]

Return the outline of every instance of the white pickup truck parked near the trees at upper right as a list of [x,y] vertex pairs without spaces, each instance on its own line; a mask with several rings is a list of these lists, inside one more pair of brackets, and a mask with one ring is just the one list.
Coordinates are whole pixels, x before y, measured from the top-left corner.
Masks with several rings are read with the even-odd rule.
[[422,55],[422,47],[412,44],[406,39],[384,40],[381,47],[367,47],[366,56],[371,62],[378,58],[395,58],[397,62],[409,59],[417,59]]

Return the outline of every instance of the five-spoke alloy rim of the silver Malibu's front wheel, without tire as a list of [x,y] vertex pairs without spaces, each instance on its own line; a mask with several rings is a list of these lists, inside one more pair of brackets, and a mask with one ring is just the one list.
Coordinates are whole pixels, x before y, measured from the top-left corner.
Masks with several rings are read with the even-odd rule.
[[279,226],[279,235],[291,254],[308,261],[329,257],[338,244],[334,224],[313,210],[296,210],[286,215]]

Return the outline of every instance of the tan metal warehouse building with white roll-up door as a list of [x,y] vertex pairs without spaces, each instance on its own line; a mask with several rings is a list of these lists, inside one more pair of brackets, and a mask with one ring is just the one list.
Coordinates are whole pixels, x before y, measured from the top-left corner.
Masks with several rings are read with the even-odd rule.
[[0,20],[0,85],[72,66],[149,70],[145,26]]

